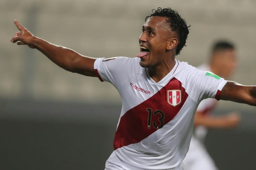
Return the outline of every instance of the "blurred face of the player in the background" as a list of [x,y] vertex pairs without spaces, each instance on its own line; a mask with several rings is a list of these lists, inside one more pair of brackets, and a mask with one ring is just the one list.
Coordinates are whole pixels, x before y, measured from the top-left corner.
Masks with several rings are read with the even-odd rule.
[[217,51],[214,55],[219,75],[229,78],[237,67],[236,51],[234,49],[225,49]]

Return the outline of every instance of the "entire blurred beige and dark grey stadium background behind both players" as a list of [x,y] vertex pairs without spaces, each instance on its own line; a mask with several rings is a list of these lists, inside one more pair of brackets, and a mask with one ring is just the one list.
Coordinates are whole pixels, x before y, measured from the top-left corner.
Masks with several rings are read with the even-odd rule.
[[[128,56],[153,8],[176,9],[191,24],[187,47],[177,56],[197,66],[208,61],[217,39],[234,42],[238,69],[232,77],[256,84],[255,0],[1,0],[0,169],[104,169],[121,101],[97,78],[67,72],[37,50],[10,43],[17,19],[35,36],[92,57]],[[239,111],[235,130],[210,130],[206,145],[220,169],[253,170],[255,107],[220,101],[216,114]]]

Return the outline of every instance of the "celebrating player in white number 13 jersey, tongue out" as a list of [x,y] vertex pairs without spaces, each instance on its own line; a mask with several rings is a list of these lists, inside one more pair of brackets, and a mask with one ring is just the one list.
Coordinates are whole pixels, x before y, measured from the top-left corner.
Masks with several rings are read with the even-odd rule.
[[256,86],[244,86],[180,62],[188,26],[177,11],[152,10],[134,58],[91,58],[20,30],[11,42],[28,45],[60,67],[113,84],[122,99],[114,151],[106,170],[182,170],[194,114],[206,98],[256,106]]

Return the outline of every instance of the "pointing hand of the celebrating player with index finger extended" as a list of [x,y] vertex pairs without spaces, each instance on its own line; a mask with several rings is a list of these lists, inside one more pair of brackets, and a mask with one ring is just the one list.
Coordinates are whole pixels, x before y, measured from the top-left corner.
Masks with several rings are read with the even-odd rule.
[[13,38],[11,39],[11,42],[17,42],[18,45],[28,45],[30,48],[35,48],[35,36],[31,34],[27,29],[22,27],[17,20],[14,20],[14,24],[16,25],[20,32],[14,34]]

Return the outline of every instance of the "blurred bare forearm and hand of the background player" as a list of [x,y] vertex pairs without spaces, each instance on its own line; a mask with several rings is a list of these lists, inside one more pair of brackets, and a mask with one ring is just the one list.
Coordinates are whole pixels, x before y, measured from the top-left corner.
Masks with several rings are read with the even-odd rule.
[[204,126],[207,128],[234,128],[240,122],[237,113],[230,113],[226,116],[205,116],[203,112],[197,111],[194,118],[194,126]]

